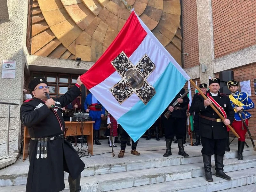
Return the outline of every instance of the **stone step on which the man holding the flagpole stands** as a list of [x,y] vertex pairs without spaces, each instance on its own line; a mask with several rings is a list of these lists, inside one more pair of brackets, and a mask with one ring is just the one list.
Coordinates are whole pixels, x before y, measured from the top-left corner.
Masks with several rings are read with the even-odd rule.
[[[255,188],[256,183],[256,167],[243,169],[233,172],[228,172],[228,175],[232,178],[232,180],[224,180],[219,177],[215,177],[213,175],[213,182],[208,182],[205,180],[205,177],[197,177],[190,178],[184,180],[175,180],[164,183],[156,183],[149,184],[139,187],[125,188],[119,190],[112,190],[112,192],[171,192],[171,191],[179,191],[179,192],[194,192],[194,191],[223,191],[229,189],[233,191],[231,188],[236,188],[244,185],[253,184],[252,187]],[[239,190],[239,192],[243,191],[255,191],[251,190],[251,188],[247,188],[248,190],[244,190],[243,187]],[[227,191],[229,191],[227,190]],[[100,190],[99,190],[100,191]],[[235,190],[234,190],[235,191]]]

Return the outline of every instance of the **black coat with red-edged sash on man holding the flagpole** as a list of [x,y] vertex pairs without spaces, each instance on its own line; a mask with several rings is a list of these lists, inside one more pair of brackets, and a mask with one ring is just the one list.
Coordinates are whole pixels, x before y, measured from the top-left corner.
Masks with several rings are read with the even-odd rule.
[[[206,95],[212,96],[210,91],[206,92]],[[217,96],[212,97],[219,105],[224,108],[227,119],[229,119],[230,124],[232,124],[234,120],[234,109],[230,105],[230,100],[227,95],[218,93]],[[211,108],[211,106],[204,107],[204,98],[202,95],[198,94],[196,97],[194,110],[196,113],[199,114],[199,130],[200,130],[200,136],[206,137],[209,139],[226,139],[228,137],[228,131],[226,125],[221,122],[211,121],[208,119],[204,119],[200,117],[200,114],[206,117],[219,119],[220,117],[217,115],[217,113]]]

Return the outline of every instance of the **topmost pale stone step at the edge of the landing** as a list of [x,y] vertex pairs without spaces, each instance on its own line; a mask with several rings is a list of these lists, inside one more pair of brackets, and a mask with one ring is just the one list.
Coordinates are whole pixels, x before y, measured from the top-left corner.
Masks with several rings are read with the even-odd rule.
[[[140,156],[134,156],[127,151],[124,158],[120,159],[117,158],[118,151],[116,151],[114,158],[109,157],[109,154],[85,158],[82,159],[85,169],[81,177],[203,162],[200,146],[187,146],[190,155],[187,158],[178,155],[177,144],[173,144],[172,147],[172,156],[169,157],[163,157],[164,150],[152,152],[143,151],[142,148]],[[154,150],[154,147],[152,148]],[[159,149],[159,147],[157,148]],[[231,151],[225,153],[224,159],[237,158],[236,148],[236,145],[230,145]],[[244,148],[243,154],[246,157],[256,155],[256,152],[252,148]],[[214,160],[214,156],[212,156],[212,160]],[[28,168],[28,161],[17,161],[12,166],[0,170],[0,187],[26,184]],[[68,173],[64,172],[64,178],[68,179]]]

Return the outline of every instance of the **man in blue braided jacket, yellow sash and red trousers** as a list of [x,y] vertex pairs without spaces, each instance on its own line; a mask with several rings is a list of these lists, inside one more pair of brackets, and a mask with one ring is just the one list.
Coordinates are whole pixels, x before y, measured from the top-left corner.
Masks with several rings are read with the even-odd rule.
[[231,91],[229,95],[231,106],[235,111],[235,119],[232,123],[236,133],[239,135],[238,139],[238,160],[243,160],[243,151],[245,144],[245,134],[246,128],[243,125],[243,120],[245,120],[246,125],[248,125],[248,120],[251,118],[251,114],[246,110],[254,108],[254,103],[248,97],[245,92],[239,92],[239,82],[238,81],[229,81],[228,89]]

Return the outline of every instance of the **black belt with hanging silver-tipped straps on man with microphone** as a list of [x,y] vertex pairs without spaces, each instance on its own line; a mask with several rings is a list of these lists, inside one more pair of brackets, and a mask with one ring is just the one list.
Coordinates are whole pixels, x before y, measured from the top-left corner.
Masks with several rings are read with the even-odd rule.
[[41,154],[41,159],[47,157],[47,142],[48,140],[55,140],[55,139],[62,139],[63,134],[54,136],[54,137],[45,137],[45,138],[35,138],[32,137],[31,140],[38,141],[37,142],[37,151],[36,151],[36,158],[39,159]]

